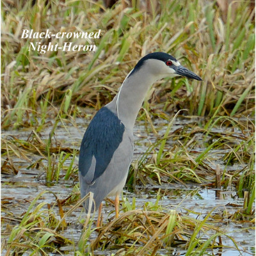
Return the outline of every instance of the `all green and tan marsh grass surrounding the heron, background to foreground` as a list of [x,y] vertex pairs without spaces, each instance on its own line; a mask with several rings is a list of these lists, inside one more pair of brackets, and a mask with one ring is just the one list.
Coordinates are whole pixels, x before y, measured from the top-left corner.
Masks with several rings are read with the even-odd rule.
[[[1,125],[3,134],[17,131],[1,141],[1,172],[11,179],[4,186],[22,180],[17,175],[22,164],[38,171],[36,179],[42,184],[51,187],[65,180],[75,186],[67,198],[56,197],[51,205],[41,201],[49,192],[38,193],[28,210],[17,216],[13,216],[12,199],[2,202],[2,251],[61,255],[65,254],[61,246],[71,244],[69,251],[76,255],[93,255],[95,250],[168,255],[173,247],[186,255],[207,255],[225,248],[223,237],[241,250],[228,232],[212,222],[255,220],[255,14],[250,1],[229,4],[228,10],[209,1],[150,1],[152,12],[136,1],[131,6],[119,1],[107,10],[100,1],[32,2],[2,1]],[[97,45],[95,52],[43,54],[29,51],[29,40],[20,40],[22,29],[52,33],[101,29],[101,36],[88,42],[70,38],[76,44]],[[56,43],[63,44],[52,39]],[[91,113],[84,113],[82,107],[99,109],[112,100],[136,61],[154,51],[169,52],[204,81],[163,79],[148,92],[150,100],[144,102],[138,119],[156,140],[149,141],[132,164],[128,188],[136,192],[138,186],[148,184],[175,182],[186,187],[193,182],[236,190],[243,207],[220,214],[212,209],[204,216],[189,209],[181,213],[159,205],[165,193],[159,190],[156,202],[145,203],[143,209],[138,209],[136,198],[132,202],[124,198],[120,217],[97,230],[92,243],[90,236],[96,232],[92,221],[87,221],[79,243],[67,239],[63,230],[74,225],[68,216],[81,204],[76,185],[80,141],[66,146],[66,141],[56,139],[58,129],[76,126],[77,117],[90,120]],[[175,129],[174,118],[181,113],[188,122]],[[185,115],[204,117],[189,122]],[[166,122],[164,131],[157,127],[157,120]],[[28,135],[20,138],[19,131],[24,129]],[[83,223],[81,219],[75,221],[77,225]]]

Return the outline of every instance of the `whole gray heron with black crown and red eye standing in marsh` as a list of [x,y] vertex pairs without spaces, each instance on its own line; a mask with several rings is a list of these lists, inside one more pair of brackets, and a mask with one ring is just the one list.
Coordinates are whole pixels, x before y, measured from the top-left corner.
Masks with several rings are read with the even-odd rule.
[[[184,76],[202,81],[169,54],[147,54],[125,78],[115,98],[96,113],[84,133],[79,154],[79,183],[81,197],[93,193],[93,208],[99,209],[97,226],[102,200],[107,196],[115,196],[118,216],[119,195],[124,188],[133,156],[136,116],[150,86],[168,76]],[[89,200],[86,200],[86,211],[88,204]]]

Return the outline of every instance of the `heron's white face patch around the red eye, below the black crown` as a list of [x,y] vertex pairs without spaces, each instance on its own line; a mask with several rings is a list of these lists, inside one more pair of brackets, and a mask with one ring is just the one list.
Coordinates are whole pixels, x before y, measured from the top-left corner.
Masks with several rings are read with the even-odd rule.
[[180,76],[176,73],[175,67],[179,67],[179,61],[167,60],[161,61],[156,59],[149,59],[145,61],[145,68],[147,68],[147,72],[160,77],[175,77]]

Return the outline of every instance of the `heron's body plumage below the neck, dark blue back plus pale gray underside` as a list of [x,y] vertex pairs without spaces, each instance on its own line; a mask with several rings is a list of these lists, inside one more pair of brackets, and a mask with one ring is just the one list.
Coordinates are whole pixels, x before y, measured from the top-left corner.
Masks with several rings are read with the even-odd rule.
[[[126,143],[127,139],[129,143],[118,150],[122,142]],[[101,108],[84,133],[79,154],[81,196],[91,191],[94,195],[94,209],[99,208],[106,196],[116,195],[119,188],[115,188],[115,184],[125,182],[124,170],[128,173],[132,161],[132,157],[127,156],[127,152],[133,152],[132,134],[129,135],[129,132],[125,131],[124,124],[108,106]],[[115,171],[115,175],[111,175],[112,171]],[[89,200],[86,200],[84,202],[86,212],[88,204]]]

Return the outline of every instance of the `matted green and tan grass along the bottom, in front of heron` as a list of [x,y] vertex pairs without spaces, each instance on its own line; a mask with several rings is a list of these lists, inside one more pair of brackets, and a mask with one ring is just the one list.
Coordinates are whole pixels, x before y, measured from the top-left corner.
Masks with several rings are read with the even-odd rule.
[[[15,221],[19,222],[19,225],[4,232],[4,236],[10,232],[8,240],[3,243],[5,255],[13,255],[13,253],[49,255],[50,252],[65,255],[63,250],[68,244],[74,255],[94,255],[94,253],[97,255],[100,250],[110,252],[113,250],[115,255],[134,255],[134,253],[157,255],[158,250],[163,250],[162,255],[168,255],[173,248],[177,247],[186,251],[187,255],[198,255],[198,253],[204,255],[205,252],[225,248],[221,243],[221,237],[228,237],[234,243],[234,248],[238,251],[242,250],[232,237],[221,231],[221,225],[216,225],[214,209],[209,211],[207,216],[198,213],[197,217],[193,218],[189,216],[189,211],[187,213],[179,213],[174,209],[168,211],[158,202],[154,205],[145,204],[143,209],[124,211],[117,219],[109,221],[101,228],[93,228],[92,221],[86,222],[79,246],[76,248],[74,241],[65,237],[63,229],[70,228],[67,225],[72,227],[74,222],[76,226],[80,225],[79,222],[83,222],[81,217],[76,221],[67,220],[67,217],[76,211],[84,198],[67,211],[65,200],[58,203],[57,198],[56,202],[51,205],[42,202],[45,193],[49,192],[42,191],[34,198],[25,214],[15,216]],[[135,198],[132,204],[131,207],[136,207]],[[58,207],[59,214],[56,212],[56,207]],[[66,209],[67,212],[63,214],[62,209]],[[221,223],[221,220],[217,221]],[[97,232],[98,235],[96,239],[90,241],[93,232]]]

